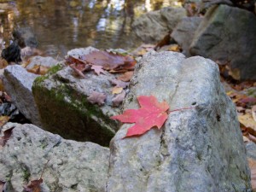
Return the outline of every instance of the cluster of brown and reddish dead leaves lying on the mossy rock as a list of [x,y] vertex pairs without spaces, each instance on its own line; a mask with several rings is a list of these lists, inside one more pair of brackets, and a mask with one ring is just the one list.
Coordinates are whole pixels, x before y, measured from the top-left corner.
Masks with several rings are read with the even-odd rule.
[[[129,85],[136,63],[137,61],[131,55],[102,50],[91,51],[90,54],[79,58],[71,55],[66,58],[66,64],[73,68],[74,73],[82,79],[86,79],[86,73],[90,71],[93,71],[96,75],[113,74],[113,79],[110,82],[113,84],[113,107],[117,107],[123,102],[125,89]],[[105,93],[93,91],[87,99],[93,104],[102,105],[106,98]]]

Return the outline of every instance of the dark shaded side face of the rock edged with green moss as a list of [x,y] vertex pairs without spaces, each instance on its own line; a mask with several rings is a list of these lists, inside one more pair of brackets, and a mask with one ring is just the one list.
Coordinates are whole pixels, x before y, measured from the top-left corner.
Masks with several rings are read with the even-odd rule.
[[108,146],[115,133],[113,128],[119,124],[68,84],[48,90],[44,87],[44,79],[37,79],[32,87],[44,128],[64,138]]

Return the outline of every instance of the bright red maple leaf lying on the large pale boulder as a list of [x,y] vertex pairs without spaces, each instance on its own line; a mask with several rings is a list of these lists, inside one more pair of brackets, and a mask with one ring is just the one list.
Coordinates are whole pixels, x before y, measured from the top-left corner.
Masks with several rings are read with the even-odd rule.
[[123,123],[135,123],[128,129],[125,137],[142,135],[154,126],[160,129],[168,117],[167,102],[158,102],[154,96],[138,96],[137,100],[141,108],[128,109],[123,114],[111,117]]

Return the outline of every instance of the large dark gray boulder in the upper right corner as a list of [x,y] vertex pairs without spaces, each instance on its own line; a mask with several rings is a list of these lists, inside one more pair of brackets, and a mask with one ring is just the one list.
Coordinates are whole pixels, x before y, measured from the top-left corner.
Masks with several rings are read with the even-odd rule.
[[195,32],[191,55],[229,62],[235,79],[256,79],[256,16],[227,5],[207,11]]

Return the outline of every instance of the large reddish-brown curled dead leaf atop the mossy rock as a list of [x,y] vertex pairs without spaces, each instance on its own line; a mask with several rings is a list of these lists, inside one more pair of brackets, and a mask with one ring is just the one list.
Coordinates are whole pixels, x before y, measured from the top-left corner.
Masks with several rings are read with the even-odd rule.
[[115,55],[107,51],[92,51],[88,55],[81,57],[83,61],[87,61],[92,65],[102,66],[106,70],[111,70],[123,65],[131,68],[135,66],[136,61],[129,55]]

